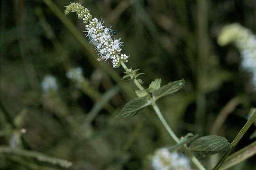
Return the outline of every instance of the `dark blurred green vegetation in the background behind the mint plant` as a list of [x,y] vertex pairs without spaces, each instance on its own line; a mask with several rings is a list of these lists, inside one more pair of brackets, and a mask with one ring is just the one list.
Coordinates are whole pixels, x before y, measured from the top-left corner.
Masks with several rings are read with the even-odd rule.
[[[150,107],[115,117],[136,87],[121,80],[122,68],[95,59],[82,21],[64,16],[70,2],[0,2],[0,169],[150,170],[155,150],[175,143]],[[78,2],[117,31],[128,67],[146,73],[145,87],[155,78],[163,85],[184,78],[183,90],[158,101],[178,136],[232,142],[256,107],[256,85],[237,46],[217,40],[230,23],[256,33],[255,0]],[[235,151],[255,141],[255,130]],[[217,160],[201,161],[211,168]],[[232,169],[255,167],[254,156]]]

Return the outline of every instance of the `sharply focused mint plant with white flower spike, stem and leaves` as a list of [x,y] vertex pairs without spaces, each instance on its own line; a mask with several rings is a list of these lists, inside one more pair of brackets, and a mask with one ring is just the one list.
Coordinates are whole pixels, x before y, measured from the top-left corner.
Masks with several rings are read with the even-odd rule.
[[[111,63],[113,68],[122,67],[125,70],[123,79],[133,81],[138,88],[135,90],[137,98],[128,102],[119,112],[117,117],[133,117],[140,113],[145,107],[153,107],[165,129],[177,143],[172,147],[175,148],[174,151],[183,149],[199,170],[205,170],[205,168],[198,158],[204,158],[216,153],[225,153],[224,157],[222,157],[218,165],[215,167],[215,169],[218,169],[225,161],[228,155],[227,153],[230,153],[231,149],[234,147],[234,145],[232,145],[233,143],[230,144],[227,139],[221,136],[202,136],[195,139],[193,135],[189,134],[179,138],[168,125],[156,104],[158,99],[181,90],[185,85],[185,81],[182,79],[161,86],[162,81],[158,78],[152,81],[147,88],[143,87],[143,80],[140,79],[139,76],[144,73],[140,73],[139,69],[127,67],[126,63],[128,62],[129,55],[123,53],[121,49],[123,42],[121,42],[121,39],[114,39],[112,28],[110,29],[110,27],[104,26],[104,21],[102,19],[99,20],[96,17],[92,17],[90,10],[88,8],[84,8],[80,3],[70,3],[66,6],[64,12],[65,15],[68,15],[70,12],[76,12],[78,19],[82,20],[85,24],[85,32],[87,33],[90,43],[95,46],[95,51],[98,53],[98,60]],[[247,124],[247,127],[250,126],[252,120],[255,119],[256,112],[253,113],[253,116],[248,121],[249,124]],[[241,133],[239,133],[239,136],[243,135],[247,130],[247,128],[245,130],[243,129],[241,130]],[[238,137],[236,139],[237,141],[235,144],[237,144],[240,138]],[[191,144],[188,147],[187,144],[189,143]]]

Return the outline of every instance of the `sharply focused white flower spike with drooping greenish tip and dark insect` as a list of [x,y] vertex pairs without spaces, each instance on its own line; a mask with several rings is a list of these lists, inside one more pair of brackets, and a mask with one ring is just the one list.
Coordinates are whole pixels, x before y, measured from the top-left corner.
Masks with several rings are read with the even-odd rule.
[[[86,9],[88,13],[83,12]],[[81,11],[82,12],[81,12]],[[88,23],[85,26],[87,36],[90,42],[95,45],[95,49],[98,52],[98,60],[111,60],[113,67],[119,67],[121,62],[128,62],[128,56],[121,54],[122,46],[121,39],[115,40],[112,36],[112,30],[106,26],[103,26],[103,21],[99,21],[97,18],[91,18],[91,14],[87,8],[84,8],[79,3],[71,3],[67,6],[65,14],[69,12],[77,12],[79,18],[84,16],[83,22]]]

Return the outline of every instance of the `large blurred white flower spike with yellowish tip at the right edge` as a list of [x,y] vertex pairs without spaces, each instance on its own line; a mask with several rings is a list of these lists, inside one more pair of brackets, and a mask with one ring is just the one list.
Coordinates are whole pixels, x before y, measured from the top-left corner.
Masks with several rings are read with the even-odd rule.
[[226,45],[230,42],[234,42],[242,54],[242,67],[253,72],[256,86],[256,35],[239,24],[230,24],[222,29],[218,43]]

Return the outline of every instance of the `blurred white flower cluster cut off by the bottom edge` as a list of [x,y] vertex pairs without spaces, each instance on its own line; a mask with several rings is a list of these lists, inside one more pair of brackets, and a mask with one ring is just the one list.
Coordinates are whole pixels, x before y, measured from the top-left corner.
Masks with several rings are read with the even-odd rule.
[[187,157],[177,152],[170,153],[168,148],[155,151],[152,167],[154,170],[191,170]]

